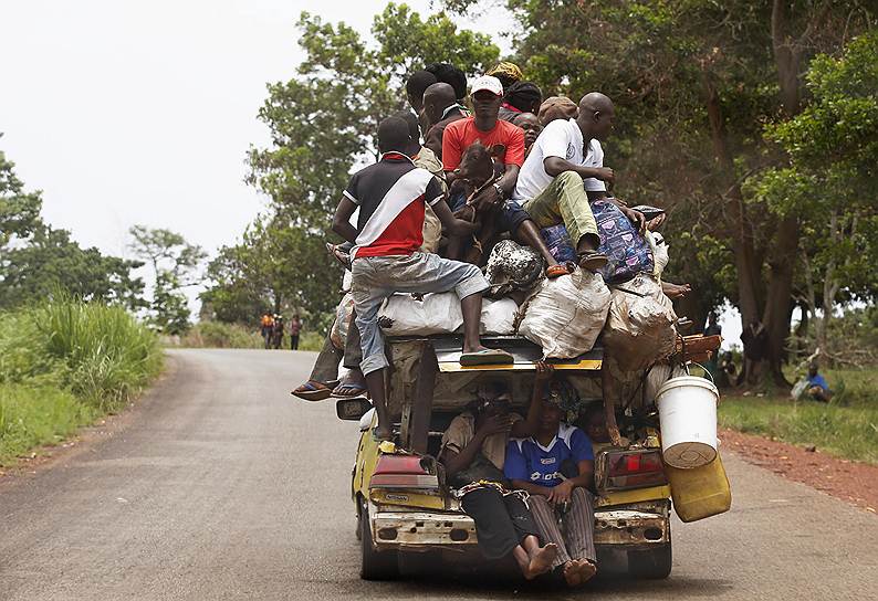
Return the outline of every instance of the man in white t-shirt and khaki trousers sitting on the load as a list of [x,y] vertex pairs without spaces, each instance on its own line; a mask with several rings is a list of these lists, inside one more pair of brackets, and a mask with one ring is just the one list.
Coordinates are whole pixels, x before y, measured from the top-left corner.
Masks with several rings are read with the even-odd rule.
[[[576,246],[579,265],[596,271],[607,256],[597,251],[600,238],[589,201],[607,197],[613,169],[604,167],[600,140],[613,129],[613,102],[597,92],[579,101],[575,119],[550,123],[521,168],[512,199],[519,201],[540,228],[564,223]],[[645,224],[644,215],[620,203],[628,219]]]

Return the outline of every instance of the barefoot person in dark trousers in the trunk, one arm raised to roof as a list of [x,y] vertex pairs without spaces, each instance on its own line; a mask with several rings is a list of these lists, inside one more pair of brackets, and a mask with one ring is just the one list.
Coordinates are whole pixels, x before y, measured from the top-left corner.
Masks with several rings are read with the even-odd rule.
[[557,546],[540,546],[539,529],[524,495],[505,482],[503,461],[510,435],[536,432],[542,388],[551,373],[551,366],[537,367],[526,420],[510,412],[511,397],[505,384],[479,386],[477,400],[451,421],[442,435],[439,453],[449,482],[458,489],[461,508],[475,521],[482,555],[494,560],[512,553],[527,580],[552,568]]

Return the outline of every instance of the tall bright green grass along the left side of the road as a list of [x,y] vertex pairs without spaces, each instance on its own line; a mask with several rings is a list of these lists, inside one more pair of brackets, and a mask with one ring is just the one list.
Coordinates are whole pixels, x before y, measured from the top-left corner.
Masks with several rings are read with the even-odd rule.
[[160,369],[156,336],[122,307],[61,298],[0,313],[0,465],[117,411]]

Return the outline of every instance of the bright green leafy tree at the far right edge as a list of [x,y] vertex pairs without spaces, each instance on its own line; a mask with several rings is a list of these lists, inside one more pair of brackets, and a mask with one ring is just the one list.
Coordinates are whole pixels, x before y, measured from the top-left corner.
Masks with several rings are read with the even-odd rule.
[[[853,40],[842,56],[817,56],[807,73],[808,105],[766,127],[788,164],[754,178],[754,194],[798,215],[799,256],[816,345],[826,340],[837,296],[874,300],[878,293],[878,32]],[[817,292],[818,283],[820,292]]]

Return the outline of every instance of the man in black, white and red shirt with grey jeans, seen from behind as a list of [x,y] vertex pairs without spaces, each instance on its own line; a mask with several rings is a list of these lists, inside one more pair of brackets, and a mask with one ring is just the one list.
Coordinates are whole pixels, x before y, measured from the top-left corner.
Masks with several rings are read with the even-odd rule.
[[[351,293],[363,349],[360,369],[378,415],[375,430],[378,440],[393,437],[385,401],[385,372],[389,363],[378,328],[378,309],[394,293],[453,289],[463,314],[460,362],[512,362],[510,354],[485,348],[479,339],[482,293],[490,287],[481,271],[474,265],[418,252],[424,242],[425,203],[433,208],[439,221],[452,233],[472,233],[473,225],[451,214],[436,177],[412,164],[406,152],[411,151],[414,144],[404,119],[384,119],[378,125],[380,160],[354,173],[333,219],[333,231],[354,244]],[[354,228],[351,217],[357,209]]]

